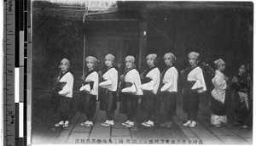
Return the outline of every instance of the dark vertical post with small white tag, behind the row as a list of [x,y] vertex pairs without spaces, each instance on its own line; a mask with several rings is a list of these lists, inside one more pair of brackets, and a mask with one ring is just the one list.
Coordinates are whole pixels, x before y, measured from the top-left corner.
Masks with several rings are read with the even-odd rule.
[[143,59],[145,58],[146,55],[146,50],[147,50],[147,21],[146,20],[141,20],[139,22],[139,31],[140,31],[140,36],[139,36],[139,56],[138,56],[138,68],[139,70],[142,69],[142,63]]

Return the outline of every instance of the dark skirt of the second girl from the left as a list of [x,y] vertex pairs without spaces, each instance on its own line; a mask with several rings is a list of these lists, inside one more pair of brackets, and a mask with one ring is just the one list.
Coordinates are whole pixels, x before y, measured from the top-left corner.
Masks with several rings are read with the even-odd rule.
[[86,115],[95,115],[96,114],[96,95],[92,95],[86,92],[80,93],[80,102],[79,102],[80,112]]

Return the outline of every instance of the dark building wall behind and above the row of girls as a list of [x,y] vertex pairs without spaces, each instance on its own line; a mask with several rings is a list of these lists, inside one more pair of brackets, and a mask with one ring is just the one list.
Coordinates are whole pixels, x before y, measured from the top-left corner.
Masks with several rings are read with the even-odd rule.
[[[37,3],[34,7],[43,6]],[[82,20],[56,20],[34,15],[33,90],[50,90],[63,58],[70,60],[75,81],[79,80],[83,69],[84,32],[85,56],[96,56],[101,61],[99,70],[104,68],[107,53],[113,53],[122,68],[125,55],[131,54],[138,59],[141,20],[148,24],[145,54],[158,54],[160,70],[165,67],[162,56],[167,52],[176,55],[178,70],[189,66],[187,56],[191,51],[200,53],[200,60],[213,67],[214,60],[224,59],[227,76],[233,76],[239,64],[253,63],[253,11],[250,9],[148,9],[147,16],[135,8],[120,11],[126,12],[123,18],[136,17],[137,20],[87,20],[83,23]],[[146,67],[145,56],[142,58],[142,68],[138,70]],[[75,91],[78,89],[74,87]]]

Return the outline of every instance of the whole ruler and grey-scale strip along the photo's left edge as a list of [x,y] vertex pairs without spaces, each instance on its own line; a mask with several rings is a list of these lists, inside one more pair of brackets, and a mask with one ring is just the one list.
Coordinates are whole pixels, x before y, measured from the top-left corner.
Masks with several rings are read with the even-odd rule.
[[27,56],[31,54],[31,4],[26,0],[3,3],[3,144],[26,145],[27,123],[31,125],[26,115],[27,92],[31,95],[31,87],[27,87],[27,76],[31,75],[27,73],[27,59],[31,61],[31,55]]

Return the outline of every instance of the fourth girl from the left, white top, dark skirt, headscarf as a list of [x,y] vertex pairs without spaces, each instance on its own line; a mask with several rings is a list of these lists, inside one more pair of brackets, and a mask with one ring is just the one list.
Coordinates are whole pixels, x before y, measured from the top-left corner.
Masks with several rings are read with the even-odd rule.
[[137,115],[138,98],[143,95],[139,73],[135,69],[135,59],[133,56],[125,58],[125,74],[121,76],[121,95],[120,113],[127,115],[127,121],[123,126],[134,126],[135,116]]

